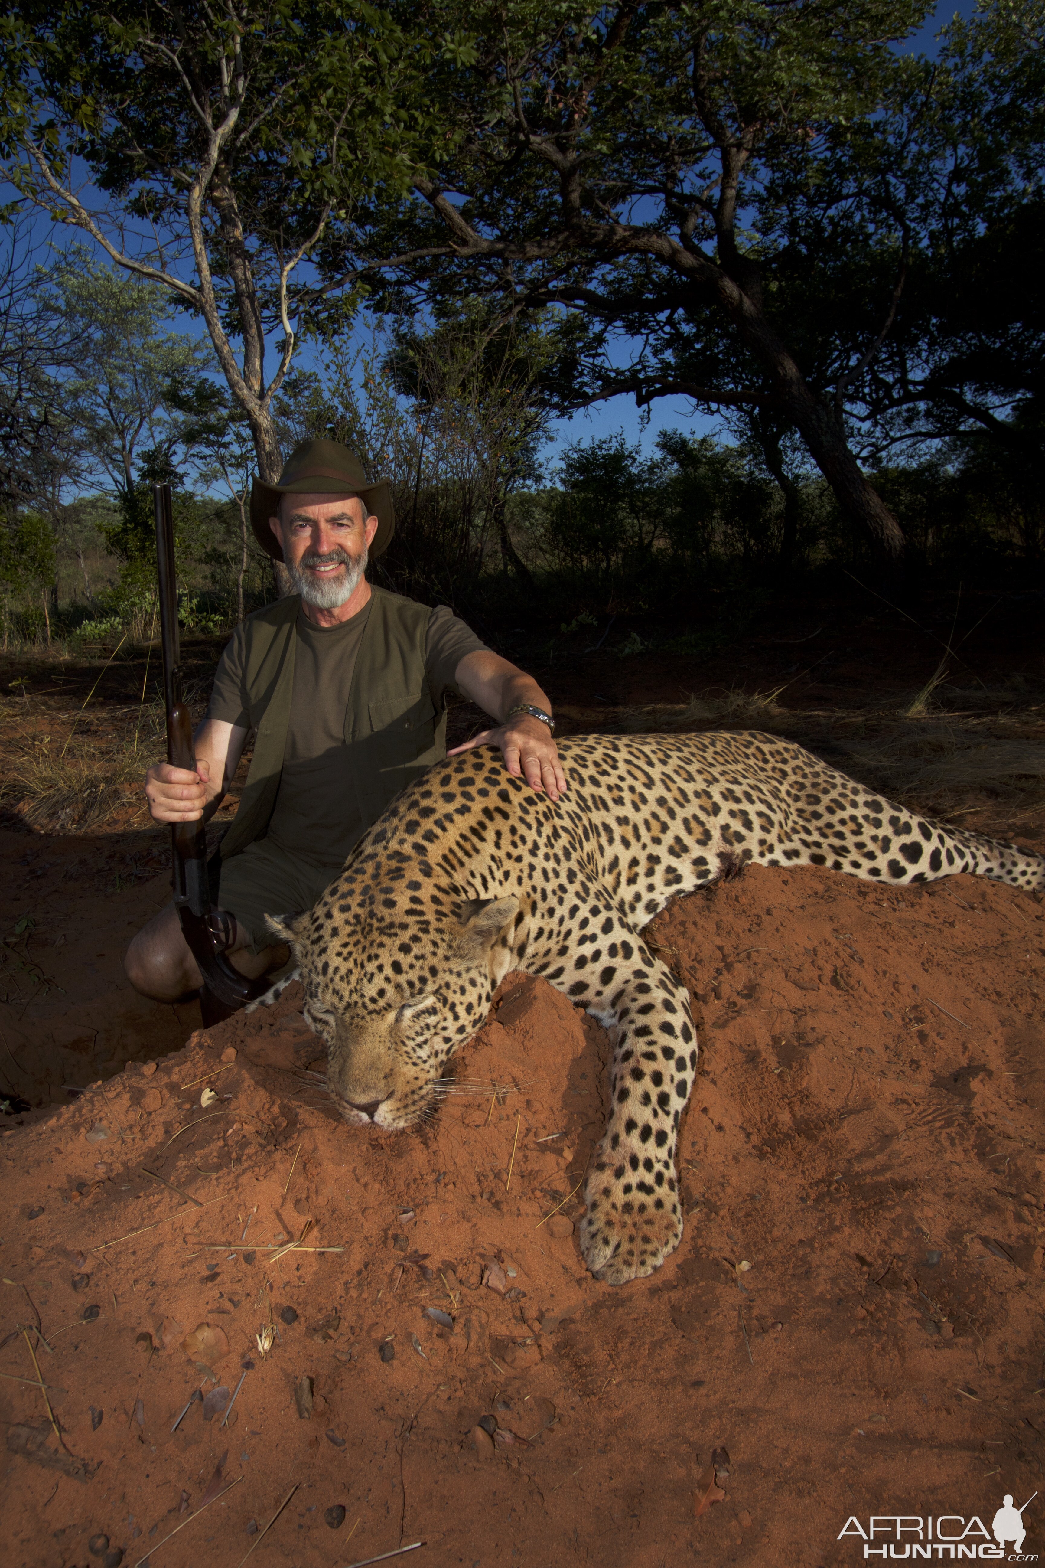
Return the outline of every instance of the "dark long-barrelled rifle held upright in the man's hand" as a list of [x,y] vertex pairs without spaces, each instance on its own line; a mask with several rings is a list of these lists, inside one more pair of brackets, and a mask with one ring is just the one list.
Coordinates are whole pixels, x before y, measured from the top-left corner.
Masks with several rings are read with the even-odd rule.
[[[171,486],[154,485],[157,508],[157,569],[160,577],[160,637],[163,641],[163,702],[168,717],[168,762],[196,770],[193,721],[182,695],[182,652],[177,626],[177,579],[174,574],[174,514]],[[207,829],[197,822],[171,823],[174,859],[174,906],[182,935],[196,960],[204,985],[199,1005],[204,1027],[229,1018],[244,1002],[262,996],[266,980],[248,980],[224,956],[232,941],[233,922],[210,902],[207,875]]]

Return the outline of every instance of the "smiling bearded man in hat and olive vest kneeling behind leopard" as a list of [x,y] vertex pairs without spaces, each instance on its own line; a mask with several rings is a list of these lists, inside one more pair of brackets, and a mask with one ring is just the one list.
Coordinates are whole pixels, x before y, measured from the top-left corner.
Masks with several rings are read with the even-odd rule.
[[[367,580],[395,514],[389,485],[368,485],[345,447],[296,447],[277,485],[254,481],[251,522],[262,547],[285,563],[293,593],[232,635],[196,732],[196,771],[160,762],[146,775],[146,795],[155,822],[208,820],[254,732],[212,894],[235,917],[229,960],[259,978],[288,956],[265,914],[310,909],[393,797],[443,760],[450,691],[495,720],[450,756],[500,746],[508,771],[551,800],[566,778],[548,699],[531,676],[448,608]],[[132,985],[160,1002],[202,983],[174,905],[135,936],[124,966]]]

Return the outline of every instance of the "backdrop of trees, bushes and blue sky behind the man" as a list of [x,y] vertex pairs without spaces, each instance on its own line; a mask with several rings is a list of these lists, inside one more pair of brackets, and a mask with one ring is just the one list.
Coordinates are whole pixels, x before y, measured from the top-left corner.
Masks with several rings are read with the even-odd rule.
[[[1040,8],[24,5],[3,22],[3,638],[279,591],[252,472],[392,478],[389,582],[655,613],[832,563],[1040,571]],[[713,434],[562,448],[627,392]],[[700,430],[707,430],[707,420]]]

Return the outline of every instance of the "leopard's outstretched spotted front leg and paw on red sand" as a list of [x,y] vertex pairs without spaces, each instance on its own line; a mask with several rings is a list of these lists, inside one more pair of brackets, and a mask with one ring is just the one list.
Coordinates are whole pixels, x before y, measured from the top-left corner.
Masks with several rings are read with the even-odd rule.
[[641,967],[589,1004],[616,1044],[613,1110],[588,1173],[580,1243],[591,1272],[609,1284],[660,1269],[682,1240],[675,1142],[697,1066],[683,986],[642,949],[636,956]]

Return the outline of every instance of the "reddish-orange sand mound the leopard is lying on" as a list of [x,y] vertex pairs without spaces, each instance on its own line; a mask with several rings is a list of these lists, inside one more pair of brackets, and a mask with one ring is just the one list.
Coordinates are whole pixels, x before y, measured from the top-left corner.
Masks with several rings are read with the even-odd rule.
[[337,1118],[296,986],[34,1113],[0,1145],[3,1562],[827,1565],[849,1516],[990,1524],[1042,1474],[1043,920],[760,869],[661,916],[688,1221],[619,1290],[572,1226],[606,1038],[531,978],[410,1134]]

